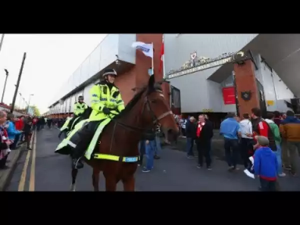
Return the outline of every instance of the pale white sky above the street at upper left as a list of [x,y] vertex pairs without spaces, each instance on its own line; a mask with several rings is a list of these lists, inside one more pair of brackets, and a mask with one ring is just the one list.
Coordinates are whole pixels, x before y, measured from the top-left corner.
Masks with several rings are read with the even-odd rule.
[[[2,34],[0,34],[1,36]],[[12,102],[23,53],[26,59],[15,101],[46,112],[55,91],[76,70],[106,34],[5,34],[0,49],[0,94],[9,72],[3,102]]]

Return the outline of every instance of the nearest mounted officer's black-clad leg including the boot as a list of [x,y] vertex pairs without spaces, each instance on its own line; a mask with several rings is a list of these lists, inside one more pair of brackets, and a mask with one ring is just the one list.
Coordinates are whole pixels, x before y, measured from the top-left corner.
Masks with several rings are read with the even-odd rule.
[[83,157],[88,144],[90,143],[94,130],[97,127],[97,122],[91,121],[79,129],[71,138],[70,141],[76,146],[73,148],[72,153],[72,167],[82,168],[83,163],[81,157]]

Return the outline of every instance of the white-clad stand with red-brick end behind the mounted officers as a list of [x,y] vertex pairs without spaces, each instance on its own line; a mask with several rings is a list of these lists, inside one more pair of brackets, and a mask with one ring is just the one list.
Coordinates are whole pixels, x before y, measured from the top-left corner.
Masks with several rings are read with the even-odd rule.
[[[154,76],[156,80],[162,79],[162,71],[158,71],[160,56],[157,50],[162,45],[162,34],[107,34],[55,94],[47,114],[61,117],[71,113],[79,95],[90,104],[89,90],[108,67],[117,71],[115,84],[127,103],[135,93],[132,89],[147,83],[148,69],[151,68],[151,58],[132,48],[134,41],[153,43]],[[163,84],[163,89],[169,92],[167,83]]]

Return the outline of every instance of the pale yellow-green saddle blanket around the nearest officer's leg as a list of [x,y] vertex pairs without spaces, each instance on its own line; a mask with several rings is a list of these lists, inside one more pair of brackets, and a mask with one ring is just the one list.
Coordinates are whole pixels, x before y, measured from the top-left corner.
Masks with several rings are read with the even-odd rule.
[[[89,143],[89,145],[88,145],[88,147],[87,147],[87,149],[86,149],[86,151],[85,151],[85,154],[84,154],[84,156],[85,156],[87,159],[90,159],[91,154],[92,154],[92,152],[93,152],[93,150],[94,150],[94,148],[95,148],[95,146],[96,146],[96,144],[97,144],[97,140],[98,140],[98,138],[99,138],[99,136],[100,136],[100,134],[101,134],[103,128],[104,128],[110,121],[111,121],[111,118],[106,118],[106,119],[102,120],[102,121],[100,122],[100,124],[98,125],[98,127],[97,127],[96,131],[94,132],[94,135],[93,135],[93,137],[92,137],[92,139],[91,139],[91,141],[90,141],[90,143]],[[74,147],[74,143],[72,143],[72,142],[70,141],[70,138],[71,138],[71,137],[72,137],[72,136],[73,136],[80,128],[82,128],[83,126],[87,125],[88,122],[89,122],[89,119],[83,119],[83,120],[81,120],[80,122],[78,122],[78,123],[75,125],[74,129],[72,129],[72,130],[68,133],[67,137],[64,138],[64,139],[58,144],[58,146],[57,146],[56,149],[55,149],[55,152],[61,153],[61,154],[69,154],[69,153],[70,153],[70,152],[69,152],[70,150],[69,150],[68,145]]]

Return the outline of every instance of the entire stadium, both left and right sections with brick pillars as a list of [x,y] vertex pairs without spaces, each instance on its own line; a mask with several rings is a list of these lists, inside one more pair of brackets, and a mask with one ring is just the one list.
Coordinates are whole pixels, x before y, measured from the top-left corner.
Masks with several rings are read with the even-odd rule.
[[[78,95],[89,103],[88,90],[106,67],[118,71],[116,85],[128,102],[151,67],[150,58],[131,47],[134,41],[153,42],[154,74],[161,79],[162,34],[108,34],[56,94],[49,114],[72,112]],[[297,111],[299,50],[299,34],[164,34],[165,96],[177,113],[206,112],[213,120],[251,107]]]

